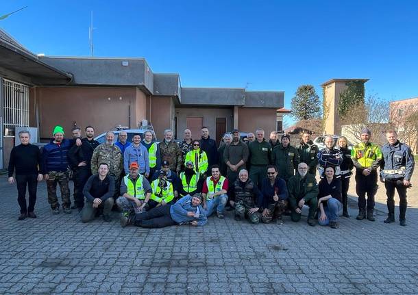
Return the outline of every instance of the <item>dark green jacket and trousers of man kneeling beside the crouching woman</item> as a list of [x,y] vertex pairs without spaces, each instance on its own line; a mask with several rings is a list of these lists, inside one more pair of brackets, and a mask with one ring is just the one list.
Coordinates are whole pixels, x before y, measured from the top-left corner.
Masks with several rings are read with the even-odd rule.
[[318,207],[317,196],[319,192],[315,176],[307,173],[302,178],[298,172],[288,180],[287,188],[292,221],[299,221],[301,218],[301,214],[296,213],[295,209],[298,207],[298,203],[302,198],[305,199],[305,204],[309,206],[308,220],[314,219]]

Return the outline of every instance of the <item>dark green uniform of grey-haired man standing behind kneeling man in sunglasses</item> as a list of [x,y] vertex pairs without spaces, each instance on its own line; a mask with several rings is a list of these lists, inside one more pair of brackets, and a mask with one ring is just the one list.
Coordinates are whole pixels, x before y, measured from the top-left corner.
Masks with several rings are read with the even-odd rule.
[[271,145],[265,139],[251,142],[249,148],[249,178],[260,188],[262,179],[266,177],[267,165],[271,162]]

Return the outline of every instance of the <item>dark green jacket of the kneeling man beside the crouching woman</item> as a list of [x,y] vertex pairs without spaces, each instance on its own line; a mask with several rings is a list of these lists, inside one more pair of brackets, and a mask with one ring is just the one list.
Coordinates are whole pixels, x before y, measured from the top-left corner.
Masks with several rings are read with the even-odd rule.
[[319,190],[317,179],[314,175],[307,173],[302,179],[299,172],[295,176],[291,177],[287,182],[288,189],[288,201],[291,208],[296,209],[297,203],[304,198],[305,202],[311,198],[317,198]]

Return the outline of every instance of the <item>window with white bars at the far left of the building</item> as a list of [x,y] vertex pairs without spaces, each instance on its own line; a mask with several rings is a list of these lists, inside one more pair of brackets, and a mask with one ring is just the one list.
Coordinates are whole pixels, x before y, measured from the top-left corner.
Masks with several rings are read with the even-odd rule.
[[29,127],[29,87],[3,79],[4,136],[14,136],[16,126]]

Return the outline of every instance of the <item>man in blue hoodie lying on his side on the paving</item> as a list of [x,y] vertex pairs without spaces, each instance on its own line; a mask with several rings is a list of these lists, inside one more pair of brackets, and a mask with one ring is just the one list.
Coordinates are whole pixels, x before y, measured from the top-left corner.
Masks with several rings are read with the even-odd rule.
[[206,225],[208,219],[205,210],[201,207],[202,201],[201,194],[187,195],[180,198],[174,205],[155,207],[136,214],[132,218],[122,215],[121,226],[136,225],[137,227],[155,229],[170,225],[190,224],[195,227]]

